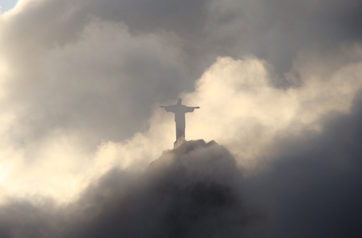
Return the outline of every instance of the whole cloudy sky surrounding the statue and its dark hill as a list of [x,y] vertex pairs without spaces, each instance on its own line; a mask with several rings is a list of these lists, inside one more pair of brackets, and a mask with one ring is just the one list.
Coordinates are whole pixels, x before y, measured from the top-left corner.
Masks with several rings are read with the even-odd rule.
[[[230,151],[243,173],[236,190],[262,211],[262,221],[229,237],[362,233],[361,1],[0,6],[1,237],[62,237],[63,229],[76,237],[99,214],[114,218],[99,204],[129,197],[152,206],[140,174],[172,148],[173,114],[158,106],[179,97],[201,107],[186,114],[186,139]],[[211,153],[202,150],[194,158]],[[66,221],[87,217],[81,201],[99,202],[94,221]],[[150,211],[135,214],[147,221]],[[168,234],[159,225],[139,235]]]

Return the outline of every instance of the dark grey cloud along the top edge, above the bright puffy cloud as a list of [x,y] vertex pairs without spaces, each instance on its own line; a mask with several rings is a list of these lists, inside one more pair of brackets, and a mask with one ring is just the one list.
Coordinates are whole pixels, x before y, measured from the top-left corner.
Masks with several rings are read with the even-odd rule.
[[106,1],[90,11],[124,21],[131,31],[176,33],[186,57],[198,64],[194,77],[217,56],[253,54],[270,62],[282,80],[298,51],[315,46],[328,51],[343,41],[359,41],[361,7],[355,0]]

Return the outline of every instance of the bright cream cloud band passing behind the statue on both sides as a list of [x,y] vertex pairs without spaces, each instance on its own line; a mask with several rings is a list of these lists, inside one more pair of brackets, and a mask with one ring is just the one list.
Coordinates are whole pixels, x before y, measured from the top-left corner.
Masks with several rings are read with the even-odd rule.
[[[298,68],[302,69],[305,62],[300,62]],[[181,95],[186,105],[201,106],[186,115],[186,139],[215,139],[233,153],[239,165],[255,167],[260,159],[278,153],[275,137],[298,137],[305,130],[320,133],[328,113],[349,112],[361,87],[361,64],[342,64],[329,72],[328,78],[321,77],[324,71],[320,68],[301,71],[303,84],[284,90],[270,85],[265,61],[254,57],[218,59],[197,81],[194,92]],[[10,194],[41,192],[64,202],[76,199],[89,181],[112,166],[144,168],[160,151],[172,148],[174,141],[173,115],[156,105],[153,108],[147,131],[121,142],[105,140],[93,151],[84,146],[87,130],[67,132],[61,128],[48,131],[49,136],[40,142],[27,143],[23,150],[4,148],[3,153],[16,163],[10,167],[4,161],[13,171],[4,177],[4,186],[11,187]],[[52,169],[55,165],[56,170]],[[52,179],[44,179],[48,177]],[[34,185],[24,189],[23,181],[30,182],[29,178],[34,179]]]

